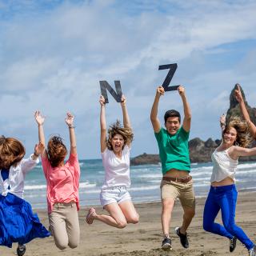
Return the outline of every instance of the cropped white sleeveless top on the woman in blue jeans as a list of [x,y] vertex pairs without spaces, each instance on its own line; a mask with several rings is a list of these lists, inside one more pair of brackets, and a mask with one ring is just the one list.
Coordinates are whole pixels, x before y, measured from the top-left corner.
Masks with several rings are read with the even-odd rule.
[[214,150],[211,155],[211,160],[214,164],[213,173],[211,174],[210,182],[221,182],[224,178],[230,177],[234,181],[234,174],[238,167],[238,159],[230,158],[227,150]]

